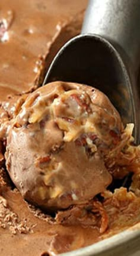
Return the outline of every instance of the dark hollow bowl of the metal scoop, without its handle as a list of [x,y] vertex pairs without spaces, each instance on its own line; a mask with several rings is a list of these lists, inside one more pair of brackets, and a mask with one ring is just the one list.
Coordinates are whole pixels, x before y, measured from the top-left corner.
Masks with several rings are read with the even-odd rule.
[[[100,36],[82,35],[71,39],[56,55],[44,83],[56,80],[98,88],[110,98],[124,124],[138,125],[131,78],[120,55]],[[135,131],[135,137],[139,137],[139,131]]]

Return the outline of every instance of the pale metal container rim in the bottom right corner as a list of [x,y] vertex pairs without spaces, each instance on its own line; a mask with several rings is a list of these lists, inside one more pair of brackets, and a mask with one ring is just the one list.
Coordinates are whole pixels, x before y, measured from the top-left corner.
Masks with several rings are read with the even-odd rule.
[[94,245],[61,256],[139,256],[140,229],[129,229]]

